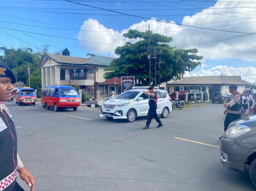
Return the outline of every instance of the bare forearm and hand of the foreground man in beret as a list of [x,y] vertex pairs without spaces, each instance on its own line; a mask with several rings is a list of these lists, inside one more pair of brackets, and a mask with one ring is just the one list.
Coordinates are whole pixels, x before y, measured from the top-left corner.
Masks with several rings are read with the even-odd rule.
[[35,181],[33,176],[28,172],[27,169],[25,169],[18,154],[17,154],[17,160],[18,160],[17,171],[19,172],[20,178],[27,183],[27,185],[30,187],[30,191],[33,191],[35,187]]

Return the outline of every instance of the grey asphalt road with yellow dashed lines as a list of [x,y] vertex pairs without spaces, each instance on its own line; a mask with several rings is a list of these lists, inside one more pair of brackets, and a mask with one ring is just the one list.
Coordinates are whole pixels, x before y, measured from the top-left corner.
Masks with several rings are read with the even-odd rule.
[[254,190],[247,174],[220,162],[222,104],[175,109],[161,119],[162,128],[152,120],[145,130],[146,117],[128,123],[101,118],[99,109],[84,106],[54,112],[39,103],[5,104],[36,191]]

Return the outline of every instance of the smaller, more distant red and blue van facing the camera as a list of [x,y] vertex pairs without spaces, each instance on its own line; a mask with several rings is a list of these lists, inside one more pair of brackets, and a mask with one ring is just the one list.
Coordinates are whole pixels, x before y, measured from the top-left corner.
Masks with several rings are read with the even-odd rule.
[[35,105],[35,90],[30,87],[18,88],[16,92],[16,104],[33,104]]

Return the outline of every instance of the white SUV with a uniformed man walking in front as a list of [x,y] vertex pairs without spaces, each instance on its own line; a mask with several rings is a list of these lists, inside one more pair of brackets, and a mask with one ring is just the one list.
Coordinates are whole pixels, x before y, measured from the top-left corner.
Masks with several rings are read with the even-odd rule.
[[[149,109],[148,97],[143,93],[145,87],[135,87],[125,91],[116,98],[107,100],[101,107],[100,117],[107,119],[127,119],[133,122],[139,116],[146,116]],[[145,90],[148,91],[148,90]],[[157,93],[157,114],[167,118],[172,111],[172,102],[166,90],[155,89]]]

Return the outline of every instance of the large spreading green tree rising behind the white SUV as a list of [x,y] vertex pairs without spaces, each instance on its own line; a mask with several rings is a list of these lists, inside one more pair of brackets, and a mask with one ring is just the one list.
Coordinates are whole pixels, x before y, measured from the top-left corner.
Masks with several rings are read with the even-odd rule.
[[[115,49],[115,54],[119,58],[114,59],[108,68],[105,68],[105,79],[114,76],[134,76],[140,85],[149,84],[149,64],[148,64],[148,31],[140,32],[137,30],[129,30],[123,35],[129,39],[139,39],[131,43],[126,42],[122,47]],[[175,49],[168,43],[172,41],[172,37],[156,34],[150,31],[151,55],[158,57],[156,62],[159,63],[159,54],[161,52],[161,83],[167,82],[173,76],[179,76],[184,71],[192,71],[201,65],[202,56],[198,56],[197,49]],[[155,59],[151,59],[151,82],[154,81]],[[156,79],[159,79],[159,65],[157,64]],[[158,83],[158,80],[157,80]]]

